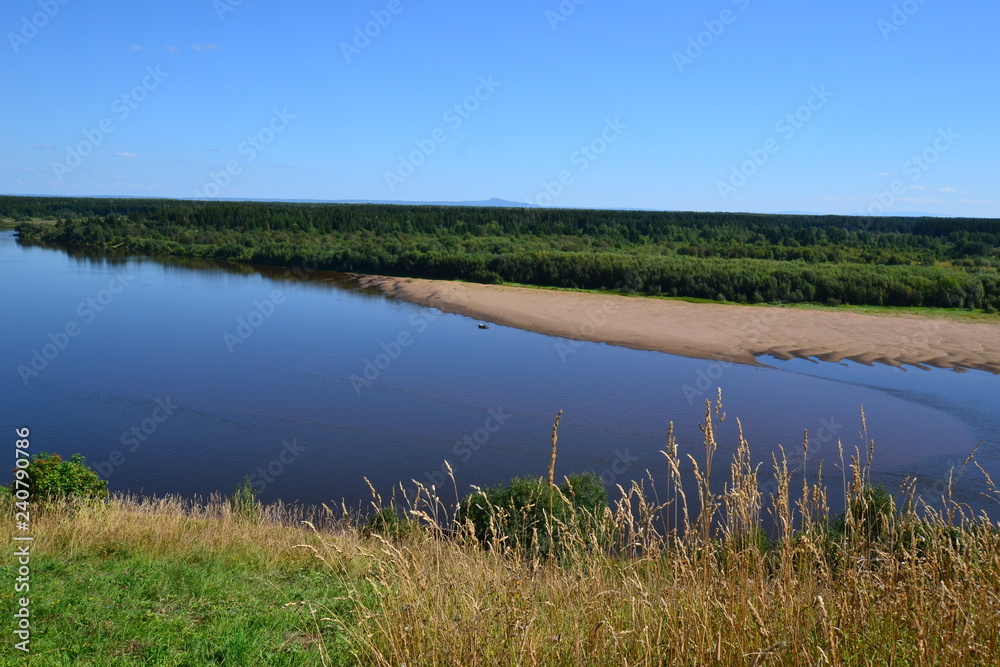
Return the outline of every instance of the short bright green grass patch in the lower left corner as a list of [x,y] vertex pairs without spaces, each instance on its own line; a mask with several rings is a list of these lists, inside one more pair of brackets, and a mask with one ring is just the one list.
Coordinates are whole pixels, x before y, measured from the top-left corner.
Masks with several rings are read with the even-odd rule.
[[314,619],[279,602],[323,601],[329,579],[224,553],[145,557],[117,545],[34,561],[30,664],[320,664]]

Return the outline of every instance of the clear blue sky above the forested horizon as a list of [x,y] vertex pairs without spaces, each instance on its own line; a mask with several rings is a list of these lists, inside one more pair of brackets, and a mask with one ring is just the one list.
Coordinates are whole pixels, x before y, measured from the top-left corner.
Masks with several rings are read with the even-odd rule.
[[1000,217],[995,2],[237,2],[3,3],[0,193]]

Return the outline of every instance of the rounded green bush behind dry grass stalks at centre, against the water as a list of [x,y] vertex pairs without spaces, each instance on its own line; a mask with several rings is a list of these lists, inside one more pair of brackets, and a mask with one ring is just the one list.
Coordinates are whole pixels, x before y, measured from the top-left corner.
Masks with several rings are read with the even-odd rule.
[[458,521],[471,525],[484,546],[549,557],[574,542],[603,544],[609,535],[607,508],[607,491],[594,473],[570,475],[558,488],[537,477],[518,477],[466,496]]

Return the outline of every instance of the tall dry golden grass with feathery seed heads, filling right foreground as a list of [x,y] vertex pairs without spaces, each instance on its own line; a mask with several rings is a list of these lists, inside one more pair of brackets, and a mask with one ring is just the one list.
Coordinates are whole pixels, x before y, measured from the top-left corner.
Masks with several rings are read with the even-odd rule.
[[[484,549],[419,485],[409,512],[422,531],[351,554],[318,535],[337,576],[358,558],[370,572],[358,614],[333,620],[361,663],[379,665],[998,664],[1000,535],[988,518],[912,493],[877,507],[868,441],[849,462],[841,453],[852,510],[834,530],[826,488],[803,479],[793,492],[784,457],[771,466],[777,491],[762,496],[742,429],[715,493],[720,411],[721,400],[707,406],[704,456],[692,459],[698,502],[671,428],[668,500],[645,484],[620,489],[604,517],[610,547],[575,534],[558,559]],[[773,544],[761,539],[768,511]],[[665,516],[678,521],[664,528]]]

